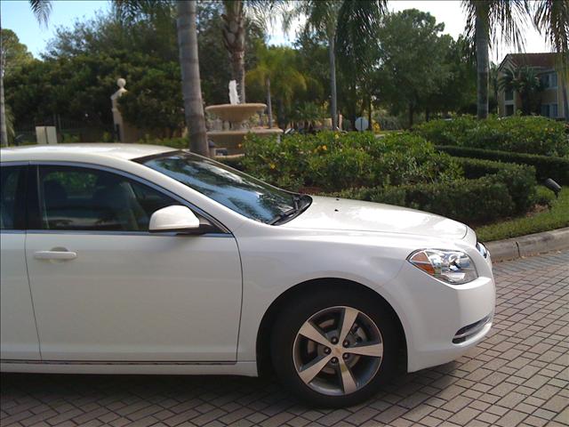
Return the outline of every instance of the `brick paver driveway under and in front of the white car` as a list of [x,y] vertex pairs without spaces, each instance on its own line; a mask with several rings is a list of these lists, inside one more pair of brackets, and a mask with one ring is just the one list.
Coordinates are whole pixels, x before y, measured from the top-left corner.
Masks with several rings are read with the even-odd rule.
[[490,336],[358,407],[302,406],[268,380],[4,375],[4,427],[29,425],[569,425],[569,252],[495,266]]

